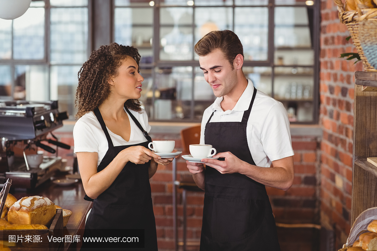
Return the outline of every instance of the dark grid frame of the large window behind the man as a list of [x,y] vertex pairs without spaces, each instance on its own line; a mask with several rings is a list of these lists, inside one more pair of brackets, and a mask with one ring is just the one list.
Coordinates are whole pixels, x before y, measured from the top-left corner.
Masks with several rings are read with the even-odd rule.
[[[151,113],[149,118],[150,121],[153,122],[200,122],[199,120],[195,120],[194,118],[194,79],[195,79],[195,67],[199,67],[199,61],[194,60],[194,51],[193,52],[193,60],[188,61],[167,61],[167,60],[160,60],[159,53],[160,53],[160,8],[168,8],[168,7],[179,7],[179,8],[193,8],[193,15],[192,15],[192,35],[193,41],[195,41],[195,8],[213,8],[213,7],[224,7],[224,8],[232,8],[233,10],[233,23],[232,23],[232,30],[234,30],[234,12],[235,8],[240,7],[267,7],[268,8],[268,51],[267,51],[267,60],[266,61],[244,61],[245,67],[271,67],[271,97],[274,97],[274,79],[275,79],[275,67],[307,67],[313,68],[313,120],[308,122],[291,122],[292,124],[318,124],[319,121],[319,36],[320,36],[320,2],[318,0],[314,1],[314,5],[308,6],[303,4],[296,4],[296,5],[275,5],[275,0],[268,0],[267,5],[235,5],[235,0],[233,0],[233,5],[193,5],[193,6],[181,6],[181,5],[161,5],[160,0],[155,0],[154,6],[115,6],[115,0],[113,0],[113,10],[115,8],[153,8],[153,44],[152,44],[152,53],[153,59],[152,63],[150,64],[140,64],[140,68],[151,69],[152,70],[152,79],[153,79],[153,97],[152,97],[152,106],[155,103],[155,80],[156,80],[156,68],[164,68],[164,67],[178,67],[178,66],[191,66],[193,67],[192,70],[192,100],[191,100],[191,116],[190,119],[185,120],[160,120],[155,119],[154,114]],[[274,23],[274,16],[275,16],[275,8],[276,7],[306,7],[313,9],[313,43],[312,49],[314,51],[314,62],[313,65],[277,65],[274,63],[274,54],[275,54],[275,46],[274,46],[274,32],[275,32],[275,23]],[[114,12],[113,11],[113,12]],[[310,17],[309,17],[310,18]],[[114,25],[114,16],[113,16],[113,37],[112,41],[115,41],[115,25]],[[192,45],[194,46],[194,44]]]

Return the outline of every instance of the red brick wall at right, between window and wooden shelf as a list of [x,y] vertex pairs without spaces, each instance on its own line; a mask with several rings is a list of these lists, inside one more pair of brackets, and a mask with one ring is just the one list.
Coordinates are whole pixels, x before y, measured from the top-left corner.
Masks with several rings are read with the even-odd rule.
[[322,0],[321,16],[321,224],[335,230],[338,249],[350,231],[354,72],[363,67],[339,58],[356,49],[333,0]]

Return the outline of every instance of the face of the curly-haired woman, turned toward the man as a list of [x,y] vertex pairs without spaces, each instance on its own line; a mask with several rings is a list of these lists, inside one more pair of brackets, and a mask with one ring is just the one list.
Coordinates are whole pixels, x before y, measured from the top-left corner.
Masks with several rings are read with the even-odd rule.
[[110,77],[112,94],[127,99],[138,99],[141,96],[141,82],[144,78],[138,73],[138,64],[135,59],[127,56],[118,68],[118,75]]

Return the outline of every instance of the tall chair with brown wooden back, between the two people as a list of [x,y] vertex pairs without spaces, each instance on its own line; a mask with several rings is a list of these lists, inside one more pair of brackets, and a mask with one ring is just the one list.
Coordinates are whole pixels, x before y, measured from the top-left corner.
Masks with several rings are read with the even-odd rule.
[[[190,153],[190,145],[195,145],[200,143],[200,130],[201,126],[193,126],[190,128],[183,129],[181,131],[181,140],[183,145],[183,151],[185,154]],[[181,179],[179,181],[175,181],[174,184],[183,190],[182,192],[182,204],[183,204],[183,242],[178,243],[178,245],[183,246],[183,250],[186,251],[186,247],[190,246],[198,246],[200,243],[188,243],[186,242],[186,233],[187,233],[187,203],[186,203],[186,192],[204,192],[198,186],[196,186],[194,179],[192,178],[191,174],[181,175]],[[178,229],[176,229],[178,231]]]

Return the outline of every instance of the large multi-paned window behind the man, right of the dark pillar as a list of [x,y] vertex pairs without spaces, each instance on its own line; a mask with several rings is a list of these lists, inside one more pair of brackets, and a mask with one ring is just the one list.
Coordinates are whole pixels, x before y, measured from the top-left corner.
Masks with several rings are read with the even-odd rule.
[[141,54],[140,101],[150,120],[200,121],[215,96],[193,47],[212,30],[233,30],[243,71],[281,101],[291,122],[317,123],[319,1],[115,0],[115,42]]

